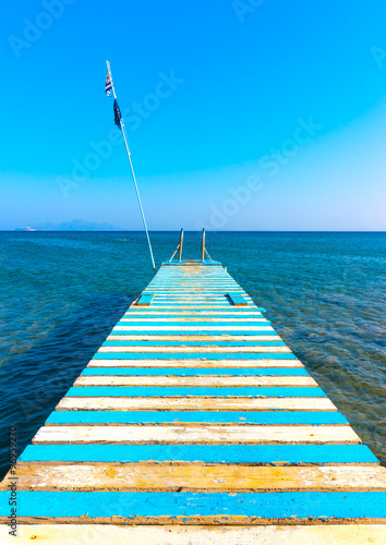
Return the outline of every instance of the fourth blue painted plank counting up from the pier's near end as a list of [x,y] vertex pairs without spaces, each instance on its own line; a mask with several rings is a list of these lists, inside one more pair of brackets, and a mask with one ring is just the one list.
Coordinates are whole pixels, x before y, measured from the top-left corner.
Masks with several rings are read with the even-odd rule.
[[153,386],[74,386],[69,389],[67,397],[274,397],[274,398],[319,398],[326,393],[317,387],[153,387]]

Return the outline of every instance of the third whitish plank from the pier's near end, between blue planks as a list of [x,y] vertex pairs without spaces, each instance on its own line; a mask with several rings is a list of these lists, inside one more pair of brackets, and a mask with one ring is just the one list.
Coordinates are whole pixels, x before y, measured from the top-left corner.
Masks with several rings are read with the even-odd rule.
[[360,444],[349,426],[44,426],[33,443],[176,443],[176,444],[264,444],[327,443]]

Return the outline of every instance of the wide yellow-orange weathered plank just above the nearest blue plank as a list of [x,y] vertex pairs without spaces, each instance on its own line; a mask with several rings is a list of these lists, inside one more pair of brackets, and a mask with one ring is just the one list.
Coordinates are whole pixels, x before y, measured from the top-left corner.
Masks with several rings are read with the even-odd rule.
[[[0,484],[0,489],[8,489],[7,480]],[[19,463],[17,489],[207,493],[386,491],[386,470],[360,465],[275,468],[238,464]]]

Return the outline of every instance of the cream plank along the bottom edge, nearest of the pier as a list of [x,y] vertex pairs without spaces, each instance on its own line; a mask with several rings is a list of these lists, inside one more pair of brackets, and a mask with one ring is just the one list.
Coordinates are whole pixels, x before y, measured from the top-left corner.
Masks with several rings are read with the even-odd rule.
[[[0,541],[13,544],[9,526],[0,525]],[[328,525],[112,525],[112,524],[21,524],[17,542],[49,543],[131,543],[157,545],[382,545],[386,524]]]

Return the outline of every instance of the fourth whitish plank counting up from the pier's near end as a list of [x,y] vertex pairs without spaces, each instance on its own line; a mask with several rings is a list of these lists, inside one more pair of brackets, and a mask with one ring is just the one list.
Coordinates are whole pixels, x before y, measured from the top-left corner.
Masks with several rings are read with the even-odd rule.
[[57,410],[74,411],[336,411],[328,398],[64,397]]

